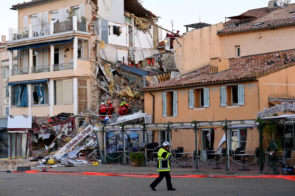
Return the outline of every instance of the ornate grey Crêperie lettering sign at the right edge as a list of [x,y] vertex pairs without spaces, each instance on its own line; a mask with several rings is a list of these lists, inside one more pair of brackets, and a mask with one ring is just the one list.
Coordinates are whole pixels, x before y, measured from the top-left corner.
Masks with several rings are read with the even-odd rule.
[[274,113],[281,112],[281,111],[295,111],[295,102],[283,102],[281,105],[276,104],[271,108],[264,108],[263,111],[257,113],[257,118],[264,118],[266,116],[271,116]]

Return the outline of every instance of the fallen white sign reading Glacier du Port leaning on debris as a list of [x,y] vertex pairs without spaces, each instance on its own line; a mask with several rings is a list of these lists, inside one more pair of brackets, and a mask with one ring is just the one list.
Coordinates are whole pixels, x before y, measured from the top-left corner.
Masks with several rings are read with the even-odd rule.
[[64,154],[67,154],[66,151],[70,150],[73,146],[76,146],[82,139],[84,139],[86,136],[88,136],[93,131],[93,127],[91,125],[88,125],[83,131],[81,131],[76,137],[71,139],[67,144],[65,144],[57,153],[55,153],[53,156],[56,159],[60,159]]

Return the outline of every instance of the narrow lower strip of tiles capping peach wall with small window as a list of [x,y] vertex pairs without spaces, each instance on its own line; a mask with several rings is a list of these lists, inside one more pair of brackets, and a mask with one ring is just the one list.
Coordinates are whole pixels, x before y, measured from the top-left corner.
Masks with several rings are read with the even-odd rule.
[[266,22],[263,22],[263,24],[259,24],[259,25],[253,25],[253,23],[251,22],[251,23],[242,25],[240,27],[231,27],[231,28],[222,29],[218,31],[217,34],[237,32],[237,31],[243,31],[243,30],[246,31],[250,29],[273,28],[279,25],[295,25],[295,18],[266,21]]

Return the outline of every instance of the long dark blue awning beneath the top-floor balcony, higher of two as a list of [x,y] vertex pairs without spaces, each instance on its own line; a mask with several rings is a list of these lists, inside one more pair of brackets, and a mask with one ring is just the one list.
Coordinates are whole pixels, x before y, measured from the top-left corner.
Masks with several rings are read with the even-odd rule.
[[43,46],[48,46],[52,44],[65,44],[72,42],[74,39],[73,36],[67,36],[67,37],[61,37],[61,38],[56,38],[56,39],[50,39],[50,40],[43,40],[40,42],[37,42],[34,44],[18,44],[14,45],[13,47],[7,47],[7,50],[23,50],[23,49],[28,49],[28,48],[38,48],[38,47],[43,47]]

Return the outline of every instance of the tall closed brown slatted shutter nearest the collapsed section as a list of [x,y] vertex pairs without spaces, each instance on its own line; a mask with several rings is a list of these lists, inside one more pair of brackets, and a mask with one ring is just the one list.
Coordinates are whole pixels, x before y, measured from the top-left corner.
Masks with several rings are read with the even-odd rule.
[[87,79],[78,78],[78,113],[87,108]]

